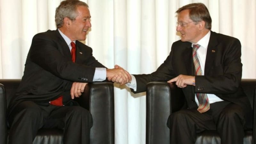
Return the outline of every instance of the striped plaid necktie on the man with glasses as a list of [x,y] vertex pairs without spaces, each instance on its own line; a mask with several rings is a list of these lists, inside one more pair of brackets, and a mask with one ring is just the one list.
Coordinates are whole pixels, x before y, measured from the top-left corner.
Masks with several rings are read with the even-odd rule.
[[[199,47],[200,47],[200,45],[198,45],[198,44],[193,45],[193,62],[194,62],[194,66],[195,66],[195,75],[196,76],[202,75],[202,70],[201,70],[200,63],[199,63],[199,60],[198,60],[198,57],[196,54],[196,51],[198,50]],[[197,111],[200,113],[208,111],[210,109],[210,103],[209,103],[209,99],[208,99],[207,95],[205,93],[196,93],[196,97],[199,101]]]

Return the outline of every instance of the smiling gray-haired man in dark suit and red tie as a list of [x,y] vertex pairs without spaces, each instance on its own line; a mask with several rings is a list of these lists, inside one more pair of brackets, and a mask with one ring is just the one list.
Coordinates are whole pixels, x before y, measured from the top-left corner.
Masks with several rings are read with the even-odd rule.
[[85,40],[91,27],[88,5],[62,1],[56,9],[57,30],[34,36],[24,75],[8,108],[10,144],[32,144],[37,130],[64,130],[64,144],[89,144],[92,116],[73,100],[87,83],[115,75],[118,83],[131,79],[124,69],[108,69],[92,56]]

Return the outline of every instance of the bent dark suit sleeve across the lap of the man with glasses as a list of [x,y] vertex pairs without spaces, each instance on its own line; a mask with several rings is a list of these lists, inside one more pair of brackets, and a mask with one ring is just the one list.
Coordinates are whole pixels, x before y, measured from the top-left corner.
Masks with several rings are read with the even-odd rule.
[[210,74],[196,76],[196,93],[231,94],[235,93],[240,85],[242,77],[240,41],[229,38],[219,45]]

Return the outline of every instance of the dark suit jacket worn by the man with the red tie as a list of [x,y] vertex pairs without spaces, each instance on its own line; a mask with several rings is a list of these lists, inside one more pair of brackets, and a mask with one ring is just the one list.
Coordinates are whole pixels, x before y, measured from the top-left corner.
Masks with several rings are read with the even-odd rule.
[[71,61],[69,47],[58,30],[34,36],[25,64],[24,75],[16,96],[11,101],[34,101],[47,104],[63,95],[70,100],[73,82],[92,82],[95,67],[104,67],[92,56],[92,48],[76,41],[76,63]]

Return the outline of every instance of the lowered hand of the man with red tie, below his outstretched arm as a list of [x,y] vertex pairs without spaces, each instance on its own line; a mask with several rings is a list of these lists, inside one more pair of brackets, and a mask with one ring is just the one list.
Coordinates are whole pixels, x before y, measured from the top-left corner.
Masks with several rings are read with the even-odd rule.
[[84,92],[84,88],[86,84],[87,83],[73,82],[70,90],[71,98],[74,99],[75,97],[81,96],[82,93]]

